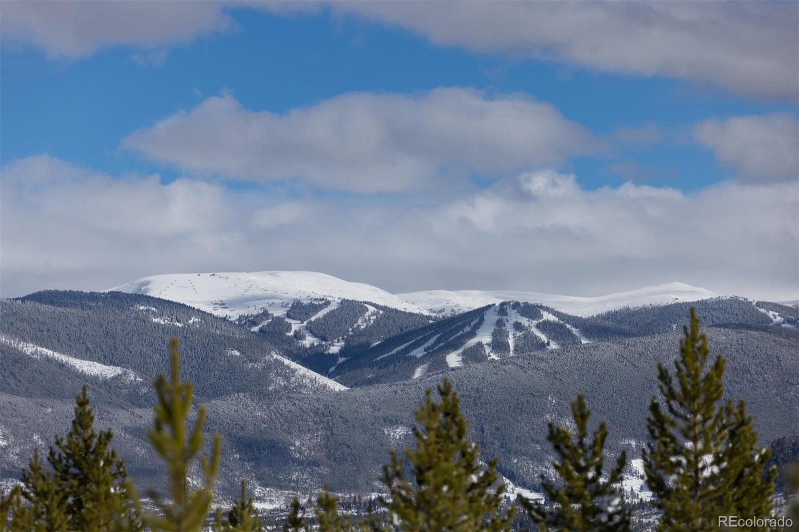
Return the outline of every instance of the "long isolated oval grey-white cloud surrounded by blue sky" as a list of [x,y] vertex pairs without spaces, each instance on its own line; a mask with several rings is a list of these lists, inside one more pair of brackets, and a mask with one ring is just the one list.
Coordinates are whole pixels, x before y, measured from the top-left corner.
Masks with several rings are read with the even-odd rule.
[[551,105],[471,89],[348,93],[281,115],[211,97],[123,145],[199,175],[297,177],[357,192],[430,188],[442,175],[514,173],[601,148]]

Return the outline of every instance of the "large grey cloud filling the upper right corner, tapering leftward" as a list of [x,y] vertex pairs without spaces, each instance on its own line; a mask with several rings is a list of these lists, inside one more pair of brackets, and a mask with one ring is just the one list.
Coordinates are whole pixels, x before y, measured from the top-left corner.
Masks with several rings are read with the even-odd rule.
[[796,2],[342,2],[431,42],[605,72],[799,95]]

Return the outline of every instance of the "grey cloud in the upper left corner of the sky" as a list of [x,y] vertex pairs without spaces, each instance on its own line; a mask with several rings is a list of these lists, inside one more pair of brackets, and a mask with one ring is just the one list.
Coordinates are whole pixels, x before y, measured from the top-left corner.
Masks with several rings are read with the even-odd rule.
[[152,49],[192,42],[234,27],[219,2],[134,0],[11,0],[2,2],[0,24],[4,40],[30,43],[51,58],[70,59],[89,56],[107,46]]

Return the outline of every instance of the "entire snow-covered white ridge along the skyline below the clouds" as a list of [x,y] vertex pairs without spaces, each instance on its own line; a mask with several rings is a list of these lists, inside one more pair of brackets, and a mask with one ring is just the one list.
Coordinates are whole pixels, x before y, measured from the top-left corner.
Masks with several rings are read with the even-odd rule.
[[[607,296],[560,296],[509,290],[430,290],[391,294],[371,284],[341,280],[319,272],[177,273],[144,277],[110,291],[145,294],[188,304],[217,316],[236,317],[266,308],[284,316],[293,300],[371,301],[408,312],[466,312],[501,301],[527,301],[576,316],[592,316],[622,307],[696,301],[719,294],[683,283],[658,284]],[[323,311],[324,312],[324,311]],[[329,311],[328,311],[329,312]]]

